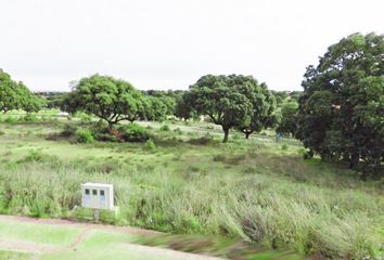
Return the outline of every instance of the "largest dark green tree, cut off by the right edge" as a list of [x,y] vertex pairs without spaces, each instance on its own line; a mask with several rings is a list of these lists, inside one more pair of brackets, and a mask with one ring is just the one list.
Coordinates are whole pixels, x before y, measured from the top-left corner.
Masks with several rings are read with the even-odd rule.
[[311,154],[382,176],[384,36],[354,34],[331,46],[304,75],[297,136]]

